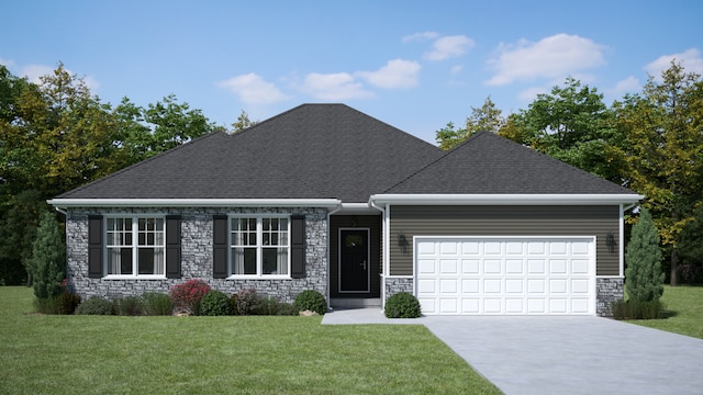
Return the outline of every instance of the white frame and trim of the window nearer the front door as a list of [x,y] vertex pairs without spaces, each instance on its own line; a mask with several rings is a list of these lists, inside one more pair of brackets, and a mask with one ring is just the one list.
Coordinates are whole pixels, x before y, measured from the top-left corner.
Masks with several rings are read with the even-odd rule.
[[[256,218],[256,274],[230,274],[230,276],[227,276],[227,280],[290,280],[292,279],[291,276],[291,262],[290,262],[290,250],[291,250],[291,234],[290,234],[290,214],[246,214],[246,213],[242,213],[242,214],[232,214],[227,216],[227,272],[232,273],[233,270],[233,262],[232,262],[232,219],[237,219],[237,218]],[[286,256],[287,256],[287,273],[288,274],[264,274],[264,260],[261,259],[263,257],[263,249],[264,247],[261,246],[261,241],[264,240],[264,226],[263,226],[263,219],[264,218],[278,218],[278,219],[288,219],[287,221],[287,232],[288,232],[288,237],[287,240],[288,242],[286,244],[286,246],[279,246],[279,247],[284,247],[286,248]]]

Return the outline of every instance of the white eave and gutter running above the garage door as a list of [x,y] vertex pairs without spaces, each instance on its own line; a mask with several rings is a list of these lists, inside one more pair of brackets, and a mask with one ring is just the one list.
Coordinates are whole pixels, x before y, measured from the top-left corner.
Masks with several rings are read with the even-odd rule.
[[400,205],[610,205],[632,204],[639,194],[375,194],[369,202]]

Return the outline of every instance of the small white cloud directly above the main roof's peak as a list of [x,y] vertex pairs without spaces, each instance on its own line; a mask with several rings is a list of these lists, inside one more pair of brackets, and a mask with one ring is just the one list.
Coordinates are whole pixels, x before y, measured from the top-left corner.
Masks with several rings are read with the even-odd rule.
[[349,99],[371,98],[372,92],[364,89],[348,72],[319,74],[305,76],[301,89],[316,99],[343,101]]

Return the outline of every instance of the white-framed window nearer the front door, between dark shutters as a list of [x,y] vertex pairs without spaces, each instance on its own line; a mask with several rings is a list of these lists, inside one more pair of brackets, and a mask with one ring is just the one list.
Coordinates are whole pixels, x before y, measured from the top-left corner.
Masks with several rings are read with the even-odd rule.
[[237,217],[230,226],[232,275],[289,275],[287,217]]

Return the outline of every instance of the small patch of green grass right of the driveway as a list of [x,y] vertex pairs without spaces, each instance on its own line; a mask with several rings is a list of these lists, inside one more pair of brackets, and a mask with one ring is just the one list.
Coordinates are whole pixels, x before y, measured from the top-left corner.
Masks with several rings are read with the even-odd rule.
[[661,300],[667,318],[629,323],[703,339],[703,286],[665,285]]

